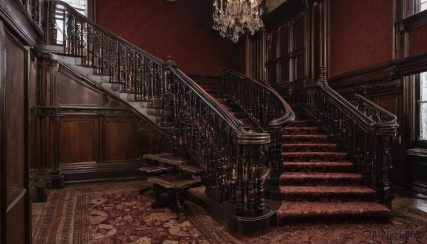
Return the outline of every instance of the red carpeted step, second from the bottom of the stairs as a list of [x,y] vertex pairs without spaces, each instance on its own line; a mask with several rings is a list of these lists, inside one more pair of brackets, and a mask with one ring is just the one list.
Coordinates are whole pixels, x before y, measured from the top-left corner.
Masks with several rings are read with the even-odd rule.
[[375,191],[365,186],[280,186],[284,201],[375,201]]

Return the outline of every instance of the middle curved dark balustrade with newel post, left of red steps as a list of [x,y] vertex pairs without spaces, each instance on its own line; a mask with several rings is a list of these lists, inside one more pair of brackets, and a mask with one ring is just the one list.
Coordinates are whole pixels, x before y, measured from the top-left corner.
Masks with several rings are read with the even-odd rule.
[[221,70],[219,97],[231,98],[264,132],[271,135],[268,162],[271,169],[266,186],[268,197],[280,200],[279,177],[282,164],[282,129],[295,119],[288,102],[272,87],[231,70]]

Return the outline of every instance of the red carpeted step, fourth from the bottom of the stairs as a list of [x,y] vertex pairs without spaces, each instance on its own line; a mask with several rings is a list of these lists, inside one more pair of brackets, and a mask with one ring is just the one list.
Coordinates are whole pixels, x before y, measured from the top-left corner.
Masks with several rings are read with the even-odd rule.
[[284,171],[290,172],[350,172],[353,169],[349,161],[290,161],[283,164]]

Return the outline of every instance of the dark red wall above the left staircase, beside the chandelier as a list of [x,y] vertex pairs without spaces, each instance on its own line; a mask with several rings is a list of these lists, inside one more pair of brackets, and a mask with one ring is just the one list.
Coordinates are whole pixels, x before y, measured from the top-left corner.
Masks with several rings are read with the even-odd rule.
[[208,0],[102,0],[97,23],[187,74],[216,75],[236,69],[238,48],[212,29],[213,11]]

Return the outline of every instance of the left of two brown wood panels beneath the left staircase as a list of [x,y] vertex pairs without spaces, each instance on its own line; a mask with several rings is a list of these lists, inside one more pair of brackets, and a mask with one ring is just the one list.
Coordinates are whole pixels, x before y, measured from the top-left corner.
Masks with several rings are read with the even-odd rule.
[[97,117],[63,117],[60,119],[60,164],[97,161]]

